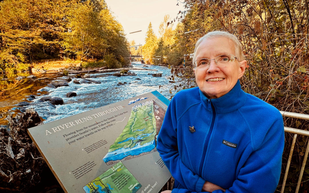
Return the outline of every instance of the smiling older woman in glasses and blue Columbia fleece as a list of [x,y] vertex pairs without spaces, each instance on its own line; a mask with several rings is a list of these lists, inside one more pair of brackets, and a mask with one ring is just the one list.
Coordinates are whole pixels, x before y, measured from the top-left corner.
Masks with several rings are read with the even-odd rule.
[[172,192],[273,193],[283,120],[275,107],[241,90],[247,61],[240,42],[209,32],[197,41],[193,63],[198,87],[174,96],[157,141],[175,178]]

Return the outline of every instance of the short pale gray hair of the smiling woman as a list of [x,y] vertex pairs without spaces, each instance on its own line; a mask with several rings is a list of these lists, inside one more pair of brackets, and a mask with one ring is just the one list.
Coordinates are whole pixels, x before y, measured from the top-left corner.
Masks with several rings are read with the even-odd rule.
[[200,39],[198,39],[196,44],[195,44],[193,58],[192,58],[194,66],[195,66],[194,61],[196,60],[196,51],[197,51],[197,47],[199,46],[199,44],[204,39],[207,39],[207,38],[219,38],[219,37],[225,37],[225,38],[228,38],[228,39],[232,40],[234,42],[234,44],[235,44],[235,54],[236,54],[236,57],[237,57],[238,61],[243,61],[245,59],[245,57],[243,55],[243,51],[242,51],[243,50],[242,46],[241,46],[241,44],[240,44],[240,42],[239,42],[239,40],[237,39],[236,36],[226,32],[226,31],[211,31],[211,32],[206,33]]

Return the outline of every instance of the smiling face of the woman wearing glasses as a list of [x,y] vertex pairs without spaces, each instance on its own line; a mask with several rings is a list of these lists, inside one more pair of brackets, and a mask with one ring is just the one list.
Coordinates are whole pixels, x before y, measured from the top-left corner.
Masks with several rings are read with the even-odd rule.
[[[232,40],[225,37],[207,38],[198,45],[195,60],[200,58],[214,59],[223,54],[235,53],[235,46]],[[247,61],[230,61],[218,65],[211,60],[209,65],[198,65],[193,69],[195,80],[200,90],[209,98],[214,99],[228,93],[243,76]]]

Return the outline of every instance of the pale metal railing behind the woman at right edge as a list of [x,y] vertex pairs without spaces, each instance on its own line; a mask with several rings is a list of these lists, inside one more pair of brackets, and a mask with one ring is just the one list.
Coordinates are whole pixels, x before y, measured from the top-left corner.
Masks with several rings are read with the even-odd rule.
[[[309,120],[309,115],[305,115],[305,114],[292,113],[292,112],[286,112],[286,111],[280,111],[280,113],[283,117],[291,117],[291,118]],[[291,146],[291,149],[290,149],[289,159],[288,159],[288,162],[287,162],[287,165],[286,165],[286,173],[284,174],[284,178],[283,178],[281,193],[284,192],[284,188],[286,186],[286,179],[287,179],[289,168],[290,168],[290,163],[291,163],[291,158],[292,158],[292,154],[293,154],[293,150],[294,150],[296,137],[297,137],[297,135],[309,136],[309,131],[305,131],[305,130],[301,130],[301,129],[284,127],[284,131],[289,132],[289,133],[294,133],[294,136],[293,136],[292,146]],[[300,174],[299,174],[299,177],[298,177],[298,182],[297,182],[297,187],[296,187],[295,193],[298,193],[298,191],[299,191],[300,183],[302,181],[305,165],[306,165],[306,162],[307,162],[308,152],[309,152],[309,140],[308,140],[308,143],[307,143],[307,148],[306,148],[306,153],[305,153],[305,156],[304,156],[302,168],[300,170]]]

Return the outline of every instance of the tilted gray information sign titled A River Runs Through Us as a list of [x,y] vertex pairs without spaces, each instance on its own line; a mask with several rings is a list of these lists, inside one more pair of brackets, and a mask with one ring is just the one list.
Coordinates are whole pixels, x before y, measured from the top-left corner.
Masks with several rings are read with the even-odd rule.
[[168,103],[153,91],[28,133],[65,192],[157,193],[171,177],[156,150]]

